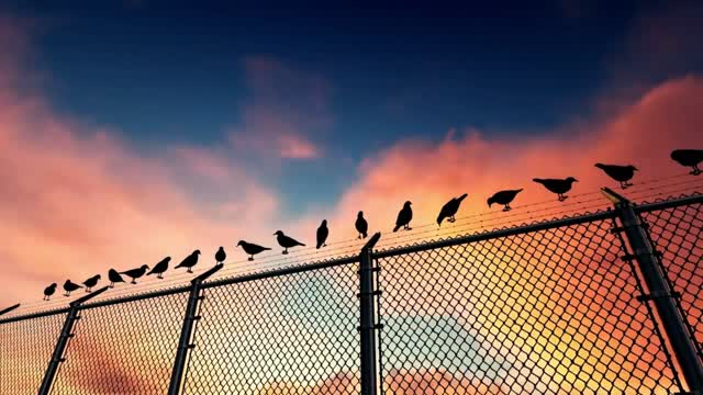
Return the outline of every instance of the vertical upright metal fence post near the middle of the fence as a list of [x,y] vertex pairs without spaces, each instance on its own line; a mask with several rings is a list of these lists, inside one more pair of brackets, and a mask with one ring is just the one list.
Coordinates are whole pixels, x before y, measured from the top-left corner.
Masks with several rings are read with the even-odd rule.
[[376,395],[376,312],[373,311],[373,257],[372,249],[381,237],[371,236],[359,257],[359,334],[361,337],[361,395]]

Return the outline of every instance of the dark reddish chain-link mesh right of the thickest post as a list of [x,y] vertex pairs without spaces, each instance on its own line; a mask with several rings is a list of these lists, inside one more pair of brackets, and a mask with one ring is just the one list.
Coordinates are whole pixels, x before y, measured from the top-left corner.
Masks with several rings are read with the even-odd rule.
[[[703,345],[703,204],[641,213],[699,349]],[[701,356],[703,358],[703,356]]]

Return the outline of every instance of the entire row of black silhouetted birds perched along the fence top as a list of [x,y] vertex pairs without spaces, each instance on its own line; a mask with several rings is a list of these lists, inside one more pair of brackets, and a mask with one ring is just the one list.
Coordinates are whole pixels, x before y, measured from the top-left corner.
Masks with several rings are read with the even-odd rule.
[[[703,172],[699,168],[699,165],[703,161],[703,150],[677,149],[671,153],[671,159],[676,160],[682,166],[691,167],[693,170],[690,173],[693,176],[699,176],[701,174],[701,172]],[[595,167],[603,170],[605,174],[611,177],[613,180],[617,181],[622,189],[626,189],[632,185],[629,181],[635,176],[635,171],[638,171],[637,168],[632,165],[618,166],[618,165],[595,163]],[[569,177],[567,179],[535,178],[533,179],[533,181],[544,185],[545,189],[557,194],[557,200],[559,202],[562,202],[568,198],[566,193],[571,190],[572,184],[578,180],[574,179],[573,177]],[[505,191],[496,192],[495,194],[493,194],[491,198],[488,199],[488,206],[491,207],[493,204],[499,204],[503,206],[504,212],[510,211],[511,210],[510,204],[513,202],[515,196],[517,196],[517,194],[522,191],[523,191],[522,189],[517,189],[517,190],[505,190]],[[454,223],[456,221],[455,215],[459,211],[459,206],[461,205],[461,202],[467,196],[468,194],[465,193],[447,202],[439,211],[439,215],[437,216],[437,225],[442,226],[442,223],[445,219],[449,223]],[[401,228],[403,230],[412,229],[410,227],[410,222],[413,218],[413,211],[411,208],[411,205],[412,203],[410,201],[403,204],[403,207],[401,208],[400,213],[398,213],[398,219],[395,221],[395,226],[393,227],[393,232],[398,232]],[[356,227],[356,230],[358,232],[358,238],[361,239],[367,237],[369,225],[366,218],[364,217],[364,212],[358,213],[355,227]],[[279,246],[283,248],[282,253],[284,255],[288,253],[289,248],[305,246],[304,244],[295,240],[294,238],[287,236],[281,230],[276,232],[274,236],[276,236],[276,239]],[[325,242],[327,240],[327,236],[330,236],[330,229],[327,228],[327,221],[323,219],[316,233],[317,249],[326,246]],[[237,242],[237,247],[242,247],[244,252],[246,252],[246,255],[249,256],[248,257],[249,261],[254,260],[255,255],[270,250],[270,248],[268,247],[263,247],[253,242],[247,242],[245,240],[239,240],[239,242]],[[192,273],[192,268],[198,263],[199,256],[200,256],[200,250],[194,250],[191,255],[186,257],[175,268],[176,269],[186,268],[189,273]],[[224,248],[220,247],[220,249],[217,249],[217,251],[215,252],[215,261],[217,262],[217,264],[223,264],[226,257],[227,255],[224,251]],[[110,280],[109,286],[114,287],[116,283],[125,283],[123,275],[130,278],[132,284],[136,284],[136,280],[144,275],[156,274],[158,279],[163,279],[164,273],[168,270],[168,264],[170,260],[171,260],[170,257],[166,257],[160,262],[156,263],[153,268],[149,268],[148,266],[143,264],[140,268],[126,270],[123,272],[119,272],[114,269],[110,269],[108,271],[108,280]],[[85,289],[86,292],[90,292],[92,287],[94,287],[98,284],[100,280],[101,280],[100,274],[96,274],[89,278],[88,280],[83,281],[82,285],[76,284],[70,280],[66,280],[66,282],[64,283],[64,291],[65,291],[64,295],[69,296],[71,292],[77,291],[79,289]],[[45,301],[48,301],[51,296],[56,292],[56,286],[57,284],[53,283],[52,285],[47,286],[44,290]]]

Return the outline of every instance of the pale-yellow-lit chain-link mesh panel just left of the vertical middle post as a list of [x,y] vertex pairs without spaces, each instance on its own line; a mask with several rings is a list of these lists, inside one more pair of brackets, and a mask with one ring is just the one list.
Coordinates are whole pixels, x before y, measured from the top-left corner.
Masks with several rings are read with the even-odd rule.
[[205,290],[186,394],[359,394],[358,264]]

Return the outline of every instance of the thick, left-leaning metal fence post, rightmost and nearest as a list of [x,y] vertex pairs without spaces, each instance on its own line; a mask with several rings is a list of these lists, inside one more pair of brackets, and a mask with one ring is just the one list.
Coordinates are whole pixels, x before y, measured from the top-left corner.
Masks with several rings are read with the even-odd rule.
[[649,294],[641,295],[638,300],[645,303],[654,302],[690,394],[703,394],[703,363],[696,354],[693,334],[689,331],[685,318],[673,300],[679,295],[669,287],[667,276],[662,272],[663,267],[658,261],[660,255],[649,242],[647,226],[641,223],[627,199],[607,188],[604,188],[603,192],[615,203],[622,223],[622,228],[617,230],[624,232],[629,242],[632,256],[625,256],[624,259],[637,262],[647,284]]

